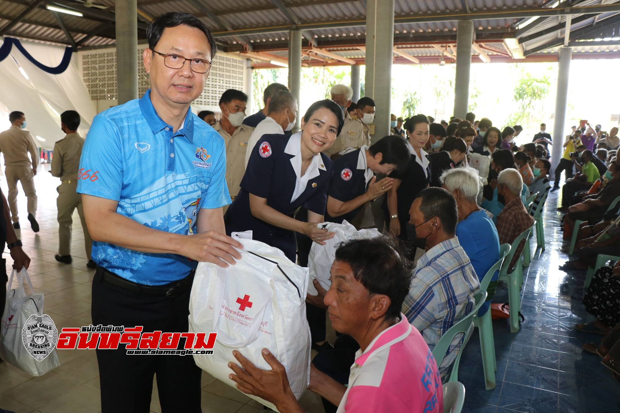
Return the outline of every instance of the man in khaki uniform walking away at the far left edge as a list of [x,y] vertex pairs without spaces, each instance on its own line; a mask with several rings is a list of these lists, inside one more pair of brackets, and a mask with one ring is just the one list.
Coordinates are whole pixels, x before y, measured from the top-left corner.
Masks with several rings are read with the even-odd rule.
[[[37,174],[39,154],[37,146],[30,132],[25,130],[26,117],[24,112],[9,113],[11,127],[0,133],[0,152],[4,153],[4,173],[9,186],[9,207],[13,228],[19,229],[19,216],[17,216],[17,181],[21,182],[22,188],[28,198],[28,220],[35,233],[39,226],[37,215],[37,191],[35,190],[34,176]],[[28,159],[28,154],[30,158]]]

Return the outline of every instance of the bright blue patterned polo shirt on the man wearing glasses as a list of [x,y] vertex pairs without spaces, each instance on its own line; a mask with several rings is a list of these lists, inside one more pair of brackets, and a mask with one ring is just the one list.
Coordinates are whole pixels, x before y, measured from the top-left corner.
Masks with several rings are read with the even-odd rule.
[[[142,99],[95,116],[82,148],[78,192],[118,201],[117,213],[149,228],[195,233],[200,208],[231,203],[226,147],[191,110],[181,128],[172,130],[155,112],[150,90]],[[149,254],[106,242],[93,242],[92,259],[146,285],[180,280],[197,265],[182,255]]]

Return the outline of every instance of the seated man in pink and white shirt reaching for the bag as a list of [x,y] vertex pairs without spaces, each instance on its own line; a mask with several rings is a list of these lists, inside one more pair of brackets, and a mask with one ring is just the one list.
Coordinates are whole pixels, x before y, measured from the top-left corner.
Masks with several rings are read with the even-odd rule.
[[[412,278],[411,265],[392,239],[349,241],[339,247],[325,294],[336,331],[360,345],[348,387],[312,365],[308,388],[338,406],[338,413],[443,412],[443,390],[435,358],[422,335],[401,313]],[[316,284],[315,284],[316,285]],[[282,413],[303,412],[286,370],[272,353],[260,370],[234,351],[241,366],[229,363],[237,388],[272,402]]]

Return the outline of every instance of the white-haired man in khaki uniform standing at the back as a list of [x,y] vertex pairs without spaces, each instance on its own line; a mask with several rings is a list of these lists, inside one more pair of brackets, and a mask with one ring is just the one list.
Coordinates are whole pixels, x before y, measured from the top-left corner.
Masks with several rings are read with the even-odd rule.
[[351,105],[353,89],[345,84],[336,84],[330,90],[330,94],[332,95],[332,100],[340,106],[345,115],[345,124],[340,135],[332,147],[324,152],[332,159],[335,159],[339,156],[339,152],[342,152],[344,149],[361,148],[363,145],[370,145],[370,141],[368,141],[368,136],[366,136],[366,130],[361,120],[355,115],[350,115],[347,110]]

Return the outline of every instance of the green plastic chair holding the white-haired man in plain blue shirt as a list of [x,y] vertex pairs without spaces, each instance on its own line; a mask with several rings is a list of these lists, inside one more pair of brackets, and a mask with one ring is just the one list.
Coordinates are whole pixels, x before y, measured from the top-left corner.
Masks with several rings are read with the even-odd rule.
[[[500,246],[500,259],[487,271],[480,281],[480,291],[487,291],[489,283],[495,271],[502,268],[502,263],[506,254],[510,252],[510,244]],[[487,390],[495,388],[495,371],[497,371],[497,360],[495,359],[495,340],[493,339],[493,323],[491,322],[490,308],[483,316],[474,315],[474,327],[478,327],[480,335],[480,351],[482,352],[482,368],[484,369],[484,380]]]

